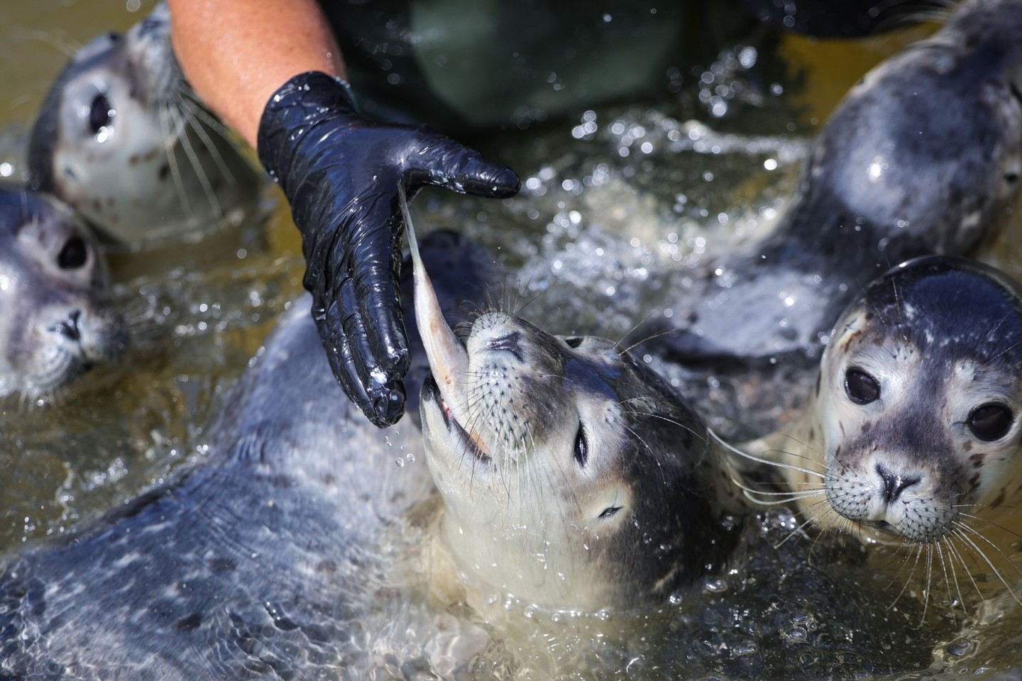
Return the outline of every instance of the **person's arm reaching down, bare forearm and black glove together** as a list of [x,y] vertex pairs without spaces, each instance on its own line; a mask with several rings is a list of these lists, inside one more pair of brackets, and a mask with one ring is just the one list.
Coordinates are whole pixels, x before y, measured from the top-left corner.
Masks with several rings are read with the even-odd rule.
[[186,77],[256,143],[291,204],[334,375],[370,421],[396,422],[408,370],[399,186],[503,197],[517,191],[517,176],[431,129],[362,117],[333,78],[342,62],[314,3],[172,0],[171,11]]

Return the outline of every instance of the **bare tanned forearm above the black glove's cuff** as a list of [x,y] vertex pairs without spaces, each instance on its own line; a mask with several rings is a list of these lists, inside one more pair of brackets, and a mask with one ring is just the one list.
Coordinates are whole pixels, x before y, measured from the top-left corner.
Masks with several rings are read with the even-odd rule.
[[344,77],[337,43],[313,0],[169,0],[185,77],[256,146],[267,100],[295,74]]

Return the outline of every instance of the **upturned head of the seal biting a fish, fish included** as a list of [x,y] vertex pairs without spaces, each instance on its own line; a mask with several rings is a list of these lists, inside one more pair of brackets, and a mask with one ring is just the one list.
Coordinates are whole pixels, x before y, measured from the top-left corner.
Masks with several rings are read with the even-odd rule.
[[444,500],[439,532],[468,581],[544,607],[663,602],[718,568],[715,452],[657,375],[593,337],[490,311],[462,341],[418,257],[429,358],[422,433]]

